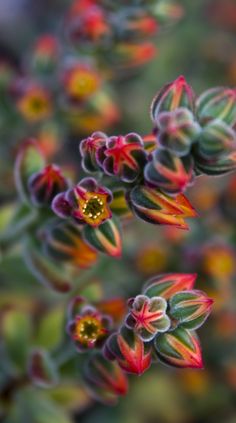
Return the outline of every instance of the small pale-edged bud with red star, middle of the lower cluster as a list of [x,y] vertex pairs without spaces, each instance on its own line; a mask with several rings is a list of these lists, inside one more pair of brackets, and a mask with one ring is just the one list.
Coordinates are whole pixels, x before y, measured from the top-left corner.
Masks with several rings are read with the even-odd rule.
[[126,326],[133,329],[144,342],[151,341],[158,332],[166,332],[170,319],[166,315],[167,302],[162,297],[137,295],[129,300]]

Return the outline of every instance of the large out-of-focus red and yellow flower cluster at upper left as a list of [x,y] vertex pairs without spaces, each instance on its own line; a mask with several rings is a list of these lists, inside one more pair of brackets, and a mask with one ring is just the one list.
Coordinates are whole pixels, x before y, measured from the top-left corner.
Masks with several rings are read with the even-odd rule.
[[[116,123],[120,111],[112,79],[151,60],[152,38],[165,22],[181,16],[172,1],[154,3],[131,1],[127,7],[126,2],[74,0],[53,22],[55,30],[35,39],[18,68],[1,61],[1,139],[15,146],[34,136],[53,155],[71,134]],[[3,177],[8,177],[11,156],[5,142],[1,154]]]

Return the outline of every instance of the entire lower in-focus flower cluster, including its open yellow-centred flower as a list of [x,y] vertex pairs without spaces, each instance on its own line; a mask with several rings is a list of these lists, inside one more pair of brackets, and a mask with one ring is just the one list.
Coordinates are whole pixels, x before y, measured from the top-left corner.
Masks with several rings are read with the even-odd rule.
[[141,295],[128,300],[118,331],[101,307],[81,297],[72,301],[68,333],[77,351],[87,352],[83,377],[92,396],[113,403],[127,392],[126,373],[141,375],[152,362],[203,367],[195,331],[209,316],[213,301],[193,289],[195,279],[194,274],[180,273],[152,278]]

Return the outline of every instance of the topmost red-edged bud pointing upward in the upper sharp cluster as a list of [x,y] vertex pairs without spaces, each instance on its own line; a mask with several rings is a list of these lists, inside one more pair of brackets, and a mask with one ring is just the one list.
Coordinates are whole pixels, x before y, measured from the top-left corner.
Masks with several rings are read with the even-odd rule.
[[183,76],[165,85],[151,104],[151,118],[156,122],[161,112],[170,112],[179,107],[186,107],[194,112],[194,93]]

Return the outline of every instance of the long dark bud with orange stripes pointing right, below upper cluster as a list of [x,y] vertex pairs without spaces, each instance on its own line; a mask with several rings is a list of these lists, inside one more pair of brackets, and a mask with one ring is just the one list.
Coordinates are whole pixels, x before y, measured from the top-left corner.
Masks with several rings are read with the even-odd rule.
[[128,194],[130,208],[142,220],[152,224],[171,225],[188,229],[186,217],[196,217],[196,212],[183,194],[170,197],[158,188],[139,185]]

